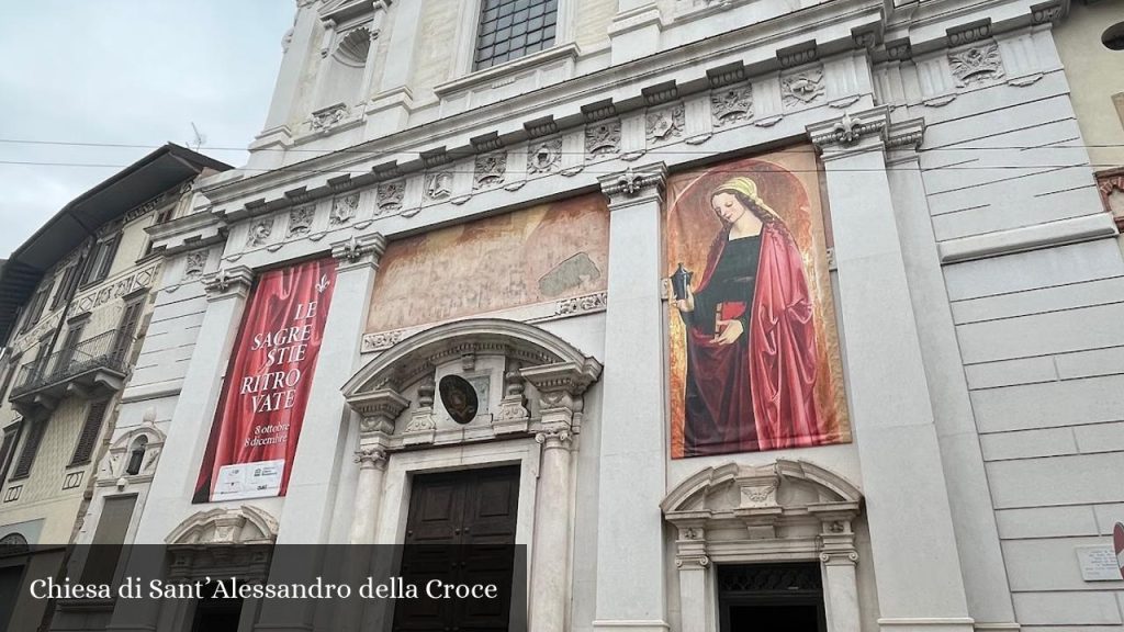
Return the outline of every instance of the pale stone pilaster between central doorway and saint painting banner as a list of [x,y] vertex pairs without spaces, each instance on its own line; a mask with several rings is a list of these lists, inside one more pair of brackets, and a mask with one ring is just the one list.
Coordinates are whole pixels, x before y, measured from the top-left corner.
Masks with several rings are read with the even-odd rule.
[[[615,45],[615,44],[614,44]],[[663,163],[601,179],[609,197],[595,630],[667,630]],[[636,578],[644,578],[637,581]]]

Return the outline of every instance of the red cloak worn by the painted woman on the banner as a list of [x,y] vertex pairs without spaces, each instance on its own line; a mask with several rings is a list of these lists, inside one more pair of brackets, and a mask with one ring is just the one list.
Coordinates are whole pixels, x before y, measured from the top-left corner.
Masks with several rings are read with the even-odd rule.
[[[714,280],[729,241],[722,231],[707,258],[696,296]],[[720,319],[749,326],[738,342],[687,327],[687,455],[817,445],[828,439],[816,413],[816,334],[800,252],[779,220],[761,229],[752,299],[723,301]],[[751,312],[744,315],[746,306]],[[692,419],[691,410],[696,410]],[[708,417],[708,418],[707,418]],[[696,424],[692,427],[692,424]]]

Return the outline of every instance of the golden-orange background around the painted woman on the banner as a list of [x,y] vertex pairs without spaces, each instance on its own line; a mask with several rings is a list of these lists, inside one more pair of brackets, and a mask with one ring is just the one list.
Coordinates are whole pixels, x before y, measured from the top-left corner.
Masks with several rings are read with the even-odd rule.
[[[743,175],[756,183],[758,196],[785,222],[800,250],[808,291],[815,303],[813,317],[818,359],[816,409],[826,421],[826,427],[837,436],[831,443],[847,443],[851,441],[851,423],[843,392],[835,301],[827,270],[818,161],[812,145],[719,163],[670,178],[665,214],[667,276],[670,277],[682,262],[695,273],[691,287],[696,287],[706,270],[710,245],[722,229],[722,223],[710,207],[710,193],[731,178]],[[674,295],[669,291],[671,457],[680,459],[683,455],[687,332],[673,299]]]

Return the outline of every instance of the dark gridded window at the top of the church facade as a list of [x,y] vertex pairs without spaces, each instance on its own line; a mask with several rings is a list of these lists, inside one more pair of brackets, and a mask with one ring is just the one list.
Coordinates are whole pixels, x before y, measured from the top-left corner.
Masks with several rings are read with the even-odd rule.
[[517,60],[554,45],[559,0],[481,0],[473,69]]

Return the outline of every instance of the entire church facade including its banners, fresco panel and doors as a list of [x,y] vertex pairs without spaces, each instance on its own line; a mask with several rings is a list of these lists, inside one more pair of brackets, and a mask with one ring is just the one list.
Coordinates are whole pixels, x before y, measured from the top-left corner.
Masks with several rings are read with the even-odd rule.
[[[299,1],[248,164],[149,229],[132,541],[522,544],[535,632],[1121,629],[1068,10]],[[297,610],[237,629],[346,628]]]

